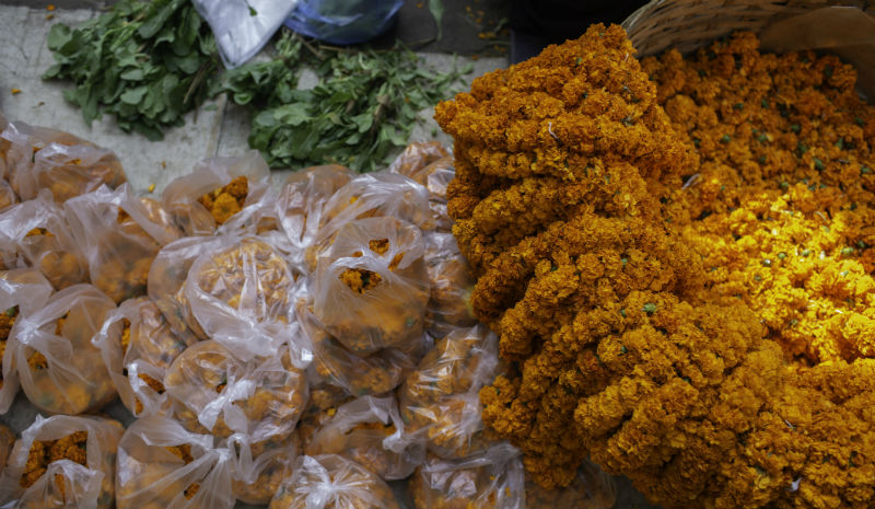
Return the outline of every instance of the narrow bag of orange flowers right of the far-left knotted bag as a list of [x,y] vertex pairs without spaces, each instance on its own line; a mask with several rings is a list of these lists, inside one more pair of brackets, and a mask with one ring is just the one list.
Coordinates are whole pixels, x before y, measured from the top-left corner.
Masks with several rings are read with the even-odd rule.
[[107,315],[93,343],[131,414],[142,417],[170,409],[164,375],[194,339],[174,334],[152,301],[141,297],[122,302]]

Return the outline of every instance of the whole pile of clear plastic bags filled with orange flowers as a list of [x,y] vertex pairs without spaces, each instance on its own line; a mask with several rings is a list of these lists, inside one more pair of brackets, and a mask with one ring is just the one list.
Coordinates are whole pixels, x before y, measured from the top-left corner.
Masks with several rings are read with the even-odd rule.
[[[255,151],[211,159],[154,199],[112,151],[0,130],[0,413],[21,386],[52,415],[0,429],[0,505],[614,504],[595,467],[527,489],[483,429],[498,345],[468,310],[439,144],[278,190]],[[116,396],[127,429],[94,415]]]

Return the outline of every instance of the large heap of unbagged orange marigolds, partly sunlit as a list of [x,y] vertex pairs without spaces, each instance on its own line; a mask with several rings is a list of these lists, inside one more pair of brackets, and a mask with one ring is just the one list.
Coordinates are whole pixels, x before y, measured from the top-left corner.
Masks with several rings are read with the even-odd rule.
[[794,71],[749,35],[633,54],[594,25],[436,108],[471,302],[509,361],[483,421],[547,488],[588,455],[666,507],[871,507],[875,117],[853,70]]

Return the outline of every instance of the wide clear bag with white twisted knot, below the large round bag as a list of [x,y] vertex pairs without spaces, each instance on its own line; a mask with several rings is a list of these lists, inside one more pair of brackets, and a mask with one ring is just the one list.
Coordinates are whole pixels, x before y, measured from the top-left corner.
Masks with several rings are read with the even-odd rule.
[[246,435],[253,454],[291,436],[307,402],[306,375],[288,349],[244,362],[217,342],[200,342],[171,365],[164,385],[179,423],[195,432]]

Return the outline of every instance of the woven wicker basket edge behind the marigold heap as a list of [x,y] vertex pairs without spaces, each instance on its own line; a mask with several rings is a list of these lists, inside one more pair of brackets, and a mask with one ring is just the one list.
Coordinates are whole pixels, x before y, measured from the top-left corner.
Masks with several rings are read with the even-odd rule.
[[653,0],[622,27],[641,58],[668,48],[692,51],[735,31],[760,33],[775,21],[830,5],[856,7],[875,15],[875,3],[866,0]]

